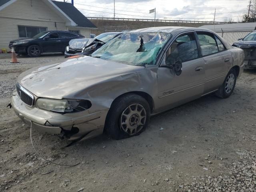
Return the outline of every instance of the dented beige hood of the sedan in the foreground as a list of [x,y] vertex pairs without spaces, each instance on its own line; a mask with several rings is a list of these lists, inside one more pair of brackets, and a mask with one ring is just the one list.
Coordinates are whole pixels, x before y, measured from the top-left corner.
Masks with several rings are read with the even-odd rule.
[[[32,68],[18,77],[18,83],[38,97],[67,98],[117,76],[134,74],[144,67],[121,64],[89,56],[65,59],[57,64]],[[111,85],[110,85],[111,86]]]

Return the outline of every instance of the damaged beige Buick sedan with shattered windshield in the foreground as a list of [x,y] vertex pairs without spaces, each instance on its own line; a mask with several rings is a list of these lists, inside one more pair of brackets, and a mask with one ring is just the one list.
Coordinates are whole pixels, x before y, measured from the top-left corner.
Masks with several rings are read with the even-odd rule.
[[32,128],[82,140],[140,134],[150,116],[206,94],[229,97],[244,52],[202,28],[156,27],[114,38],[91,56],[32,68],[11,106]]

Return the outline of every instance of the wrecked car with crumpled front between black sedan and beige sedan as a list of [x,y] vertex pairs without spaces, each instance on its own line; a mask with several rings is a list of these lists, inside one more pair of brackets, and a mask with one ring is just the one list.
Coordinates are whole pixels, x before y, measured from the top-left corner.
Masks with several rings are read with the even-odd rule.
[[102,33],[95,38],[90,39],[75,39],[69,42],[66,47],[65,58],[75,55],[90,55],[102,45],[112,40],[116,36],[122,34],[121,32]]

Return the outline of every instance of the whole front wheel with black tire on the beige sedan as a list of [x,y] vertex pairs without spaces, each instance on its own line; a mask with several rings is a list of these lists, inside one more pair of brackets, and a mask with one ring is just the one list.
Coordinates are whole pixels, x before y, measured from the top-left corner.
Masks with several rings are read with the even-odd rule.
[[115,140],[132,137],[145,130],[149,119],[148,102],[137,94],[126,94],[111,105],[105,130]]

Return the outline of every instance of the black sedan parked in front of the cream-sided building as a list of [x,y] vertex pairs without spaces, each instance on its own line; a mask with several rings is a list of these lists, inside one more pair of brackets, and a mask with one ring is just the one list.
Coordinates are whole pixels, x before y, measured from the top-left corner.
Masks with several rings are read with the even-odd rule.
[[75,38],[84,38],[80,34],[68,31],[44,31],[32,38],[19,38],[10,41],[17,54],[38,57],[45,52],[65,52],[68,42]]

